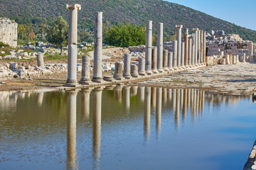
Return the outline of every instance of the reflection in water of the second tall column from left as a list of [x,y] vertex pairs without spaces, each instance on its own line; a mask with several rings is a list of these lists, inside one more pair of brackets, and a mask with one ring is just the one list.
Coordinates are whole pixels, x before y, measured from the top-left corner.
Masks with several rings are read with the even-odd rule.
[[102,114],[102,89],[93,90],[93,113],[92,113],[92,157],[94,168],[100,164],[100,135],[101,135],[101,114]]

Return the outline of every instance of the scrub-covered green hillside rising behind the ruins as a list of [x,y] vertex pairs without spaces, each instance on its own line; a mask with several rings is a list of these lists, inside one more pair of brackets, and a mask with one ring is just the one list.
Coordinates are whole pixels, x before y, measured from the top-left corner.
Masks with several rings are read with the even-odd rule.
[[162,22],[166,35],[174,34],[175,25],[182,24],[183,28],[189,28],[190,31],[195,27],[202,30],[225,30],[225,33],[237,33],[244,40],[256,42],[254,30],[161,0],[1,0],[0,17],[13,18],[18,23],[50,23],[58,16],[68,19],[65,4],[74,2],[82,6],[82,10],[78,12],[80,30],[92,31],[94,12],[103,11],[103,20],[107,25],[119,22],[144,24],[147,20],[152,20],[154,33],[157,23]]

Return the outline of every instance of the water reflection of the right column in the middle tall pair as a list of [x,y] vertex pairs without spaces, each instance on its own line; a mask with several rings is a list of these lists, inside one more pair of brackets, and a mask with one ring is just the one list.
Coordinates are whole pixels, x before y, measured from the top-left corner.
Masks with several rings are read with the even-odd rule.
[[161,99],[162,99],[162,88],[156,89],[156,136],[158,137],[161,132]]

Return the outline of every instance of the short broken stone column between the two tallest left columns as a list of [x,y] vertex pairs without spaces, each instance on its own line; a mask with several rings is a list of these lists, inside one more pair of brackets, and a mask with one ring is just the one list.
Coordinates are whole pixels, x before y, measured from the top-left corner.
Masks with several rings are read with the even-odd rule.
[[82,56],[82,77],[79,84],[90,84],[90,57]]

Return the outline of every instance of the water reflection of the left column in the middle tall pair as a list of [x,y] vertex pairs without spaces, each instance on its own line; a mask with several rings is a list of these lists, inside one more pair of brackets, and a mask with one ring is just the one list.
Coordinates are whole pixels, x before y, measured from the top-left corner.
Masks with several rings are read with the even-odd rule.
[[144,101],[144,139],[149,140],[150,134],[150,102],[151,102],[151,87],[145,88],[145,101]]

